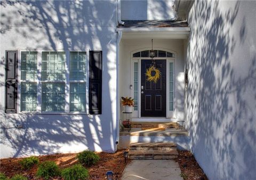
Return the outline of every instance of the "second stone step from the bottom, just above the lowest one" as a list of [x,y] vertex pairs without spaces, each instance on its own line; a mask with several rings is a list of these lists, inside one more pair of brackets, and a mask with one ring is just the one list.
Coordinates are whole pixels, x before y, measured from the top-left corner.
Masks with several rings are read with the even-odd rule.
[[175,143],[131,143],[130,150],[176,150]]

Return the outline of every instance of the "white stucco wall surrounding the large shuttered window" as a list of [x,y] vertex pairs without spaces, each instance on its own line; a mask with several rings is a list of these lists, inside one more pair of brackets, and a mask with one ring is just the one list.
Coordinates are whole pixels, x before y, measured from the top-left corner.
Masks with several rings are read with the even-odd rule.
[[[0,7],[0,157],[115,151],[117,2],[1,1]],[[102,114],[4,113],[6,50],[102,50]],[[25,128],[13,128],[19,122]]]

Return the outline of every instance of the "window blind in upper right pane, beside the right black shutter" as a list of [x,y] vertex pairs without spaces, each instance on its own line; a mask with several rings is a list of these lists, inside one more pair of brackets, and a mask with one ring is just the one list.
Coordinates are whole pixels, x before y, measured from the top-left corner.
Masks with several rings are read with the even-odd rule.
[[70,52],[70,80],[86,80],[86,52]]

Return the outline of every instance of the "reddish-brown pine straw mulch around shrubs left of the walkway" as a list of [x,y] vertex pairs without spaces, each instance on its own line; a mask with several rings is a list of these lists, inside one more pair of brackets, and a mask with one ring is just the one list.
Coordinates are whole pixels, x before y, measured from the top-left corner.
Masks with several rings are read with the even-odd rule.
[[[117,151],[116,153],[99,152],[100,161],[87,169],[89,170],[89,179],[106,179],[106,172],[112,170],[115,174],[115,179],[120,179],[125,168],[124,150]],[[43,161],[55,161],[60,169],[69,167],[77,163],[77,153],[68,154],[51,154],[46,156],[38,156],[39,162]],[[22,170],[19,161],[22,158],[7,158],[0,159],[0,171],[7,177],[12,177],[15,174],[22,174],[28,179],[36,179],[37,166],[29,170]],[[129,163],[130,160],[127,160]],[[40,178],[39,178],[40,179]],[[62,179],[61,177],[55,177],[52,179]]]

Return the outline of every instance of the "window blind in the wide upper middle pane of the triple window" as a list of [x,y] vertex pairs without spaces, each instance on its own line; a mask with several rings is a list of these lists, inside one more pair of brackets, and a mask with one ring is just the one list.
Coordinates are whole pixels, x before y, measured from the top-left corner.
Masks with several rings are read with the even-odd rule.
[[42,52],[42,80],[65,80],[65,52]]

